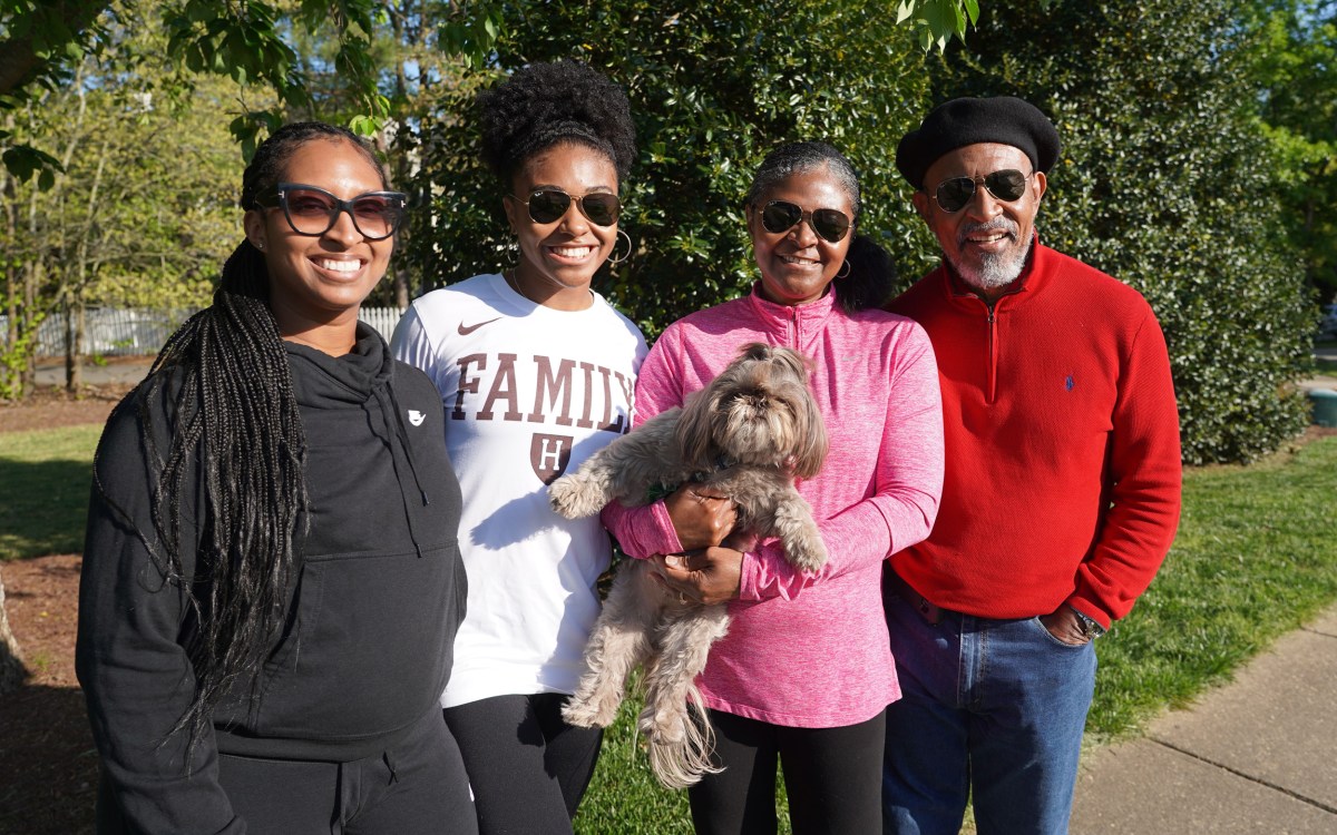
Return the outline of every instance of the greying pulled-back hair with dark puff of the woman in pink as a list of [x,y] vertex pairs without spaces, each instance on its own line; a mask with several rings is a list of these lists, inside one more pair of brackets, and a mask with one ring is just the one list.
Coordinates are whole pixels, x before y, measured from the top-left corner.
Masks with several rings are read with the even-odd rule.
[[[846,313],[881,307],[896,286],[896,265],[886,250],[868,235],[857,234],[858,216],[864,211],[862,192],[854,166],[845,155],[825,142],[789,142],[774,148],[762,160],[753,175],[747,190],[747,204],[759,208],[771,191],[796,174],[826,168],[845,191],[849,206],[854,211],[850,218],[856,230],[841,266],[842,275],[832,283],[836,286],[836,299]],[[838,274],[840,275],[840,274]]]

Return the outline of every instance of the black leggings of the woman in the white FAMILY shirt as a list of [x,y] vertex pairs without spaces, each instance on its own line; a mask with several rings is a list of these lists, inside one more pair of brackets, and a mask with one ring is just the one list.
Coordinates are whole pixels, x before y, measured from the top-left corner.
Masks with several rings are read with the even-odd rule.
[[566,700],[493,696],[443,711],[464,755],[481,835],[571,831],[603,731],[563,721]]

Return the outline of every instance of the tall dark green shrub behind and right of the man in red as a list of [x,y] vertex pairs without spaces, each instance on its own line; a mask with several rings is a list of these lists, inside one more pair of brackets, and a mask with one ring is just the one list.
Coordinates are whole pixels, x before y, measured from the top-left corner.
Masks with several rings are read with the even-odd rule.
[[1055,120],[1042,239],[1128,282],[1170,345],[1185,462],[1250,461],[1306,422],[1310,293],[1254,118],[1245,4],[989,3],[937,99],[1023,96]]

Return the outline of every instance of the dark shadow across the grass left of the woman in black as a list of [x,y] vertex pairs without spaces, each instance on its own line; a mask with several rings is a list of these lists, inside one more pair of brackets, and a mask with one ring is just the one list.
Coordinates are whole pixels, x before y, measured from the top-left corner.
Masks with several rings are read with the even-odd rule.
[[0,560],[83,548],[92,465],[0,458]]

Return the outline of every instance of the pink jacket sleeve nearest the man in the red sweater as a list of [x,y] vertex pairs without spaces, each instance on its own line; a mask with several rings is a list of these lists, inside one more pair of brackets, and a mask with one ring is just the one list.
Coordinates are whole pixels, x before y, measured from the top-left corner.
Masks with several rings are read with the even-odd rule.
[[743,600],[789,600],[808,585],[880,562],[929,534],[943,493],[943,401],[928,334],[919,325],[905,333],[893,349],[889,389],[882,389],[888,407],[876,450],[873,494],[818,521],[829,558],[817,574],[793,568],[777,541],[759,542],[743,556]]

